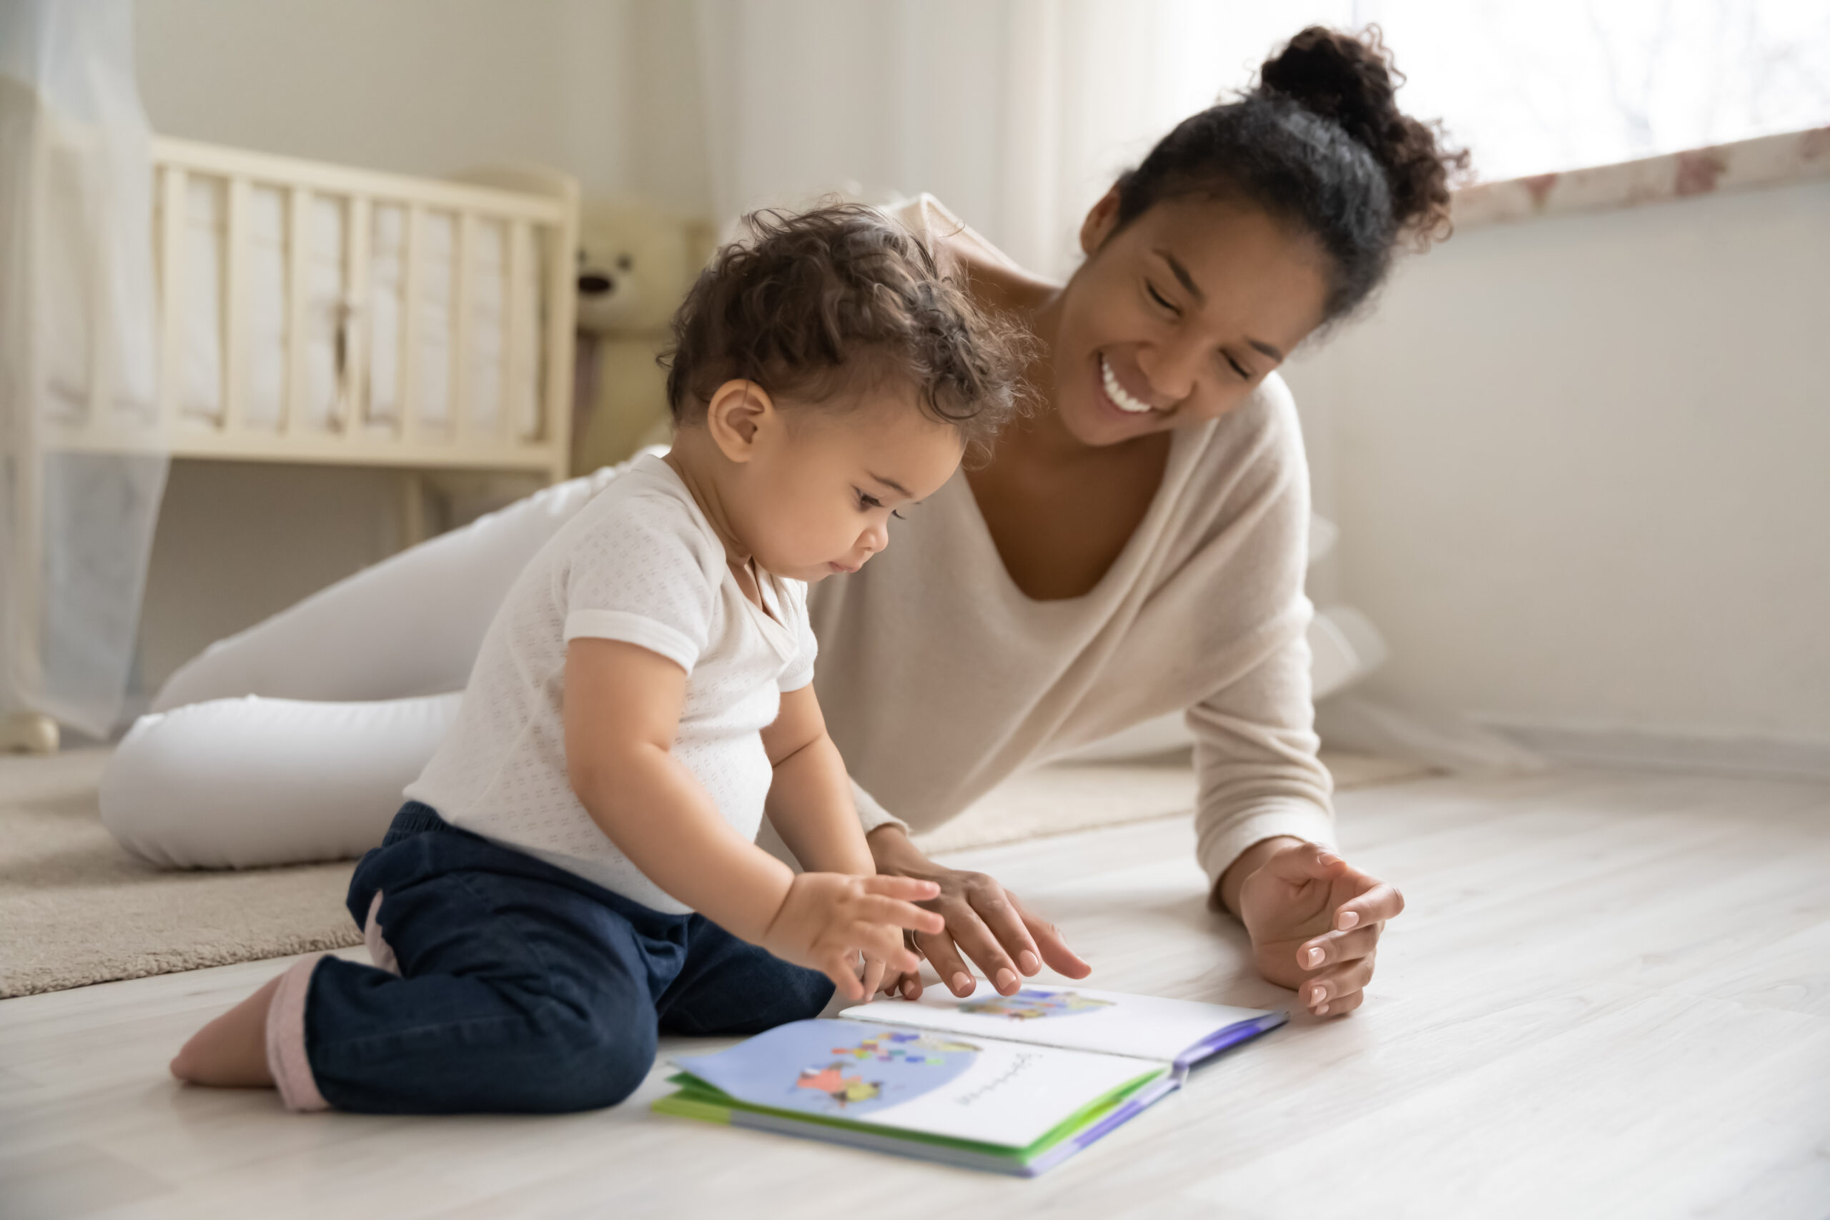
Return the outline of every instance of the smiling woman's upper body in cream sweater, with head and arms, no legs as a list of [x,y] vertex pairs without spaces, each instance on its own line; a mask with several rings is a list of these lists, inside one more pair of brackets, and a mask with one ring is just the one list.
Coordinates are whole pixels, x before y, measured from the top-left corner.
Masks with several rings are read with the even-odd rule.
[[[1301,640],[1308,487],[1276,369],[1362,307],[1407,238],[1448,230],[1466,154],[1438,148],[1394,88],[1376,31],[1305,29],[1257,90],[1182,121],[1120,176],[1065,285],[922,209],[979,296],[1038,337],[1043,408],[966,472],[970,494],[942,488],[897,552],[822,591],[814,618],[825,657],[844,657],[816,679],[834,741],[920,829],[986,779],[1186,710],[1215,905],[1318,1015],[1360,1004],[1404,904],[1325,847]],[[964,620],[975,638],[950,637]],[[1036,960],[1080,977],[996,882],[933,867],[862,803],[867,823],[884,818],[878,869],[941,882],[948,931],[919,944],[955,991],[972,986],[966,958],[1003,993]]]

